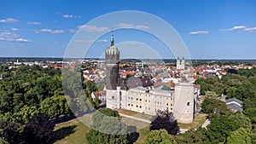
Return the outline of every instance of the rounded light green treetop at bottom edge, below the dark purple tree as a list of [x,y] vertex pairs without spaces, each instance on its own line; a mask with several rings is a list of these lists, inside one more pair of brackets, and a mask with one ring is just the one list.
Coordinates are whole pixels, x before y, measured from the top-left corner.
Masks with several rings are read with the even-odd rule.
[[148,133],[144,144],[177,144],[177,142],[166,130],[151,130]]

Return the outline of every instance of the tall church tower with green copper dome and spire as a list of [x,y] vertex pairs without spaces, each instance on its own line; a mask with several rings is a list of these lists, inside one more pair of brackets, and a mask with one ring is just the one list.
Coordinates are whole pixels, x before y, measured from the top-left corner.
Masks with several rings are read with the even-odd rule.
[[105,51],[106,62],[106,98],[108,108],[118,108],[118,95],[119,89],[119,49],[114,46],[113,32],[111,32],[111,43]]

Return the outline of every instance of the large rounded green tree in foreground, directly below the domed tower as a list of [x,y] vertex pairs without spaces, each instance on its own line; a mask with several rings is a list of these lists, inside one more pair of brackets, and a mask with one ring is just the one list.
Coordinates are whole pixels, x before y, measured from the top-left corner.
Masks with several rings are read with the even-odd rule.
[[93,114],[92,130],[85,135],[88,144],[126,144],[128,128],[119,119],[119,113],[100,108]]

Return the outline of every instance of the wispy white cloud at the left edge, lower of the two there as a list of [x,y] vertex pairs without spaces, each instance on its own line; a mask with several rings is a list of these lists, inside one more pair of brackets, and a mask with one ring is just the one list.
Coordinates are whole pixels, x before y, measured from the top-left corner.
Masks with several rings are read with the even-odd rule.
[[12,43],[31,43],[30,40],[22,38],[14,32],[0,32],[0,41],[7,41]]

